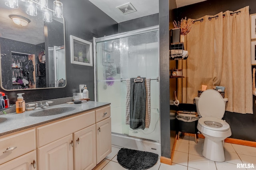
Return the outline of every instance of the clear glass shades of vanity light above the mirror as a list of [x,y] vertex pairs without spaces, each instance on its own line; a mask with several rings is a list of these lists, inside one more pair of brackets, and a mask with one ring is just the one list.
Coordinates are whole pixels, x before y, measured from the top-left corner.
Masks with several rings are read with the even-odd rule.
[[[54,0],[53,8],[51,10],[48,8],[48,0],[20,0],[26,2],[26,13],[30,16],[36,16],[37,10],[42,10],[44,12],[43,20],[45,22],[52,22],[52,12],[56,18],[63,18],[63,4],[60,0]],[[18,8],[18,0],[5,0],[6,6],[10,8]]]

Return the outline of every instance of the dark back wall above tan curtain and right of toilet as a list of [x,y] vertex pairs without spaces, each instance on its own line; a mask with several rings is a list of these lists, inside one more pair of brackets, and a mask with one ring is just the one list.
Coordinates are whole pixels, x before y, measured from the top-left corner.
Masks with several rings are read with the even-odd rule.
[[[250,14],[256,13],[255,0],[207,0],[198,4],[193,4],[178,8],[176,10],[177,19],[185,16],[187,18],[198,19],[205,15],[215,15],[226,10],[236,11],[245,6],[250,6]],[[172,20],[170,20],[172,21]],[[240,114],[226,111],[223,119],[230,125],[232,135],[230,138],[256,141],[256,96],[253,96],[254,114]]]

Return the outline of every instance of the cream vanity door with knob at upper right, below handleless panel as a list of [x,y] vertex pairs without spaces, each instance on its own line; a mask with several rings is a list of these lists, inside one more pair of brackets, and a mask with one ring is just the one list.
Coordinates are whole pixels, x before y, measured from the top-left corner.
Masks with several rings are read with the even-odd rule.
[[73,170],[72,139],[70,134],[38,148],[39,170]]

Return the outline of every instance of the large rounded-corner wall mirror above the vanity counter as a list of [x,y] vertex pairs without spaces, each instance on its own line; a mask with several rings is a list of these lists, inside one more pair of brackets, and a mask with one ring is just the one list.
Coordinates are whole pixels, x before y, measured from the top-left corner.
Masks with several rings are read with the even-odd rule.
[[[37,9],[37,16],[30,16],[26,5],[18,1],[14,9],[0,2],[1,87],[7,91],[64,87],[64,19],[52,14],[52,22],[45,22],[43,11]],[[53,9],[53,0],[48,0],[48,8]],[[15,24],[16,15],[28,25]]]

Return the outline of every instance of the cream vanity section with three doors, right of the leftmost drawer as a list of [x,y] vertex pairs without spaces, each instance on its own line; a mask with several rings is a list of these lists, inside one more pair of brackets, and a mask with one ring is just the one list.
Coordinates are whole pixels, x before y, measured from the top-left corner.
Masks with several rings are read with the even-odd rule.
[[106,106],[36,128],[38,170],[92,170],[111,152],[110,119]]

